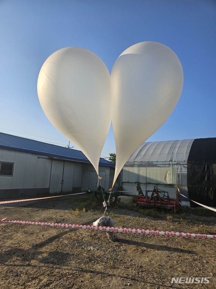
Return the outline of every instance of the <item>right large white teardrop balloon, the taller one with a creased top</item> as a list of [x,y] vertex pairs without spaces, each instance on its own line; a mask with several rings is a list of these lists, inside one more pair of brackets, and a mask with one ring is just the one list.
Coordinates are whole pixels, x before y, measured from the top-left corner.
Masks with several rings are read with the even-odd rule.
[[140,42],[117,58],[111,82],[116,141],[115,182],[131,154],[176,107],[183,86],[182,65],[166,45]]

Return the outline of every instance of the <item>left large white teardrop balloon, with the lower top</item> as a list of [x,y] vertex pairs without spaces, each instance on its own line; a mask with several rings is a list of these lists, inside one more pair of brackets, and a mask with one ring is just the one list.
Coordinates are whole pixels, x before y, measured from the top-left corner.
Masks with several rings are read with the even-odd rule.
[[38,97],[50,122],[98,163],[111,124],[110,73],[93,52],[67,47],[50,55],[38,76]]

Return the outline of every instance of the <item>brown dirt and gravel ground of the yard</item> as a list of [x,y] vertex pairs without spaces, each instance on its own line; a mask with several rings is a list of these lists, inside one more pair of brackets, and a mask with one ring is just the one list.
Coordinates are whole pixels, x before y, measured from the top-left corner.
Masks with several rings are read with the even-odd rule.
[[[89,200],[90,200],[89,196]],[[75,210],[83,197],[0,206],[0,219],[91,224],[102,211]],[[85,197],[86,200],[86,197]],[[113,208],[118,227],[216,232],[215,216],[158,217]],[[183,216],[183,217],[182,217]],[[119,234],[0,222],[0,288],[216,288],[215,241]],[[171,284],[172,277],[210,277],[208,284]]]

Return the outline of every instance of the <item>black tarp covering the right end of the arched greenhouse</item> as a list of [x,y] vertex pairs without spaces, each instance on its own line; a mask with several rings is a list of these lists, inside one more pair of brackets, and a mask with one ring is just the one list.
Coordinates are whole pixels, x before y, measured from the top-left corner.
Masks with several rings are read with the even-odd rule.
[[[193,141],[187,159],[187,188],[190,199],[216,207],[216,138]],[[191,201],[190,206],[197,207]]]

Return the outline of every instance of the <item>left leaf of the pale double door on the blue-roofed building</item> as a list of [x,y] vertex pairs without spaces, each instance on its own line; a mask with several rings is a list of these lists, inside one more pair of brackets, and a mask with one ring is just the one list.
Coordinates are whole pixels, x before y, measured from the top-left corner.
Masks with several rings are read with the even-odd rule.
[[63,176],[64,162],[57,160],[52,161],[51,176],[50,176],[50,193],[61,193],[61,183]]

